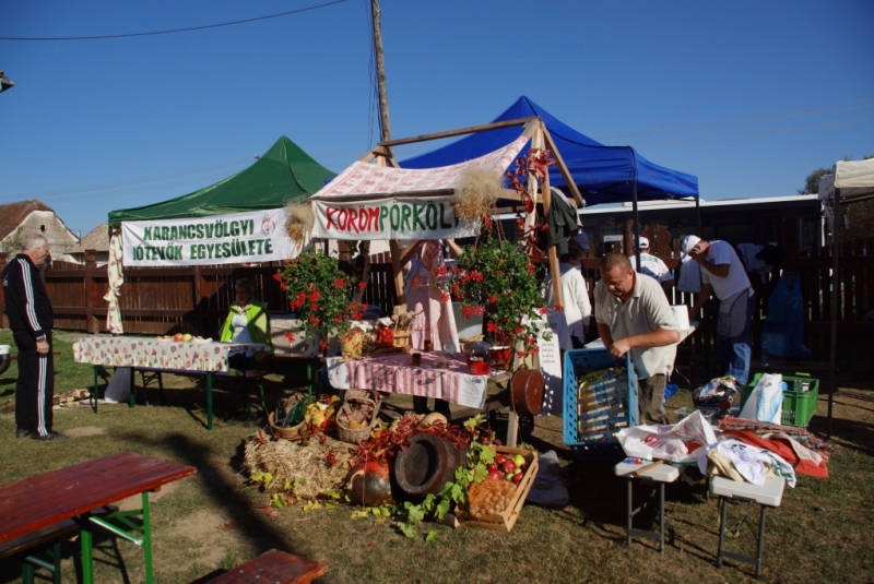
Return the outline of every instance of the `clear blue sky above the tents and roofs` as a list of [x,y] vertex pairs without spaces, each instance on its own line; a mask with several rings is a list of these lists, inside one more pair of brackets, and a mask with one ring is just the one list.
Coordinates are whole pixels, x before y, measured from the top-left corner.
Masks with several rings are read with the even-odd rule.
[[[0,37],[166,31],[330,1],[5,1]],[[527,95],[698,176],[708,200],[794,194],[811,170],[874,154],[871,0],[380,5],[392,138],[485,123]],[[17,83],[0,95],[0,203],[39,199],[85,235],[109,211],[241,170],[283,134],[339,172],[379,139],[368,7],[0,40]]]

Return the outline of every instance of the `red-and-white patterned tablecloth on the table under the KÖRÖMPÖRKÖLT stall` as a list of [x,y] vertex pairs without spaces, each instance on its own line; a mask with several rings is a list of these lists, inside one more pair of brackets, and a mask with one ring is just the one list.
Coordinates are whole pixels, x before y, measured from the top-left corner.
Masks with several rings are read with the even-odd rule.
[[469,374],[464,355],[421,355],[420,367],[413,366],[410,353],[358,360],[329,357],[328,380],[338,390],[377,390],[436,397],[479,409],[485,406],[488,378]]

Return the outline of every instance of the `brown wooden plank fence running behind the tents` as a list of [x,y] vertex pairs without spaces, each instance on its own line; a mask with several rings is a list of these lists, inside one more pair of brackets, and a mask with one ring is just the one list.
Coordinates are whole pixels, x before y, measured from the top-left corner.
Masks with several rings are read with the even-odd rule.
[[[801,253],[798,241],[801,226],[796,219],[783,223],[784,269],[799,272],[805,307],[804,342],[814,360],[829,357],[829,322],[831,302],[831,258],[828,249]],[[841,362],[869,362],[874,345],[874,238],[848,242],[840,249],[840,295],[838,309],[838,359]],[[104,267],[97,267],[96,253],[87,251],[84,265],[56,264],[45,272],[45,283],[56,314],[56,327],[97,333],[106,330],[108,290]],[[5,266],[0,254],[0,269]],[[583,259],[590,290],[597,281],[599,260]],[[678,260],[669,259],[673,267]],[[354,267],[341,262],[347,273]],[[255,284],[256,297],[268,302],[271,312],[287,310],[279,283],[273,275],[275,265],[135,267],[125,271],[125,286],[119,303],[125,331],[131,334],[170,334],[190,332],[215,336],[227,307],[234,300],[234,286],[241,278]],[[390,263],[374,263],[364,301],[390,312],[395,303]],[[674,291],[673,303],[689,303],[686,295]],[[0,307],[2,291],[0,291]],[[756,314],[753,323],[753,350],[758,356],[760,320],[767,307]],[[3,315],[3,326],[8,326]],[[693,339],[697,354],[710,357],[713,347],[712,324]]]

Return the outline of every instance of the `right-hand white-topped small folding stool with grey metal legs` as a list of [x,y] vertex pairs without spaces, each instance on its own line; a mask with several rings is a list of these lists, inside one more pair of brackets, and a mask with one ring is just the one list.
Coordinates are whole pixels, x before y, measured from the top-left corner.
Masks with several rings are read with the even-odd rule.
[[[717,568],[722,568],[722,558],[731,558],[733,560],[752,563],[756,567],[756,579],[761,575],[761,552],[765,548],[765,514],[769,506],[780,506],[780,500],[783,497],[783,487],[786,479],[782,477],[773,477],[765,480],[765,485],[758,487],[752,482],[740,482],[725,477],[713,477],[710,481],[710,492],[719,497],[719,503],[722,505],[719,520],[719,551],[717,555]],[[756,556],[744,556],[732,551],[724,551],[722,549],[725,539],[725,519],[728,516],[729,499],[737,501],[748,501],[761,505],[761,512],[758,520],[758,544],[756,548]],[[741,522],[743,524],[746,517]],[[739,525],[740,526],[740,525]]]

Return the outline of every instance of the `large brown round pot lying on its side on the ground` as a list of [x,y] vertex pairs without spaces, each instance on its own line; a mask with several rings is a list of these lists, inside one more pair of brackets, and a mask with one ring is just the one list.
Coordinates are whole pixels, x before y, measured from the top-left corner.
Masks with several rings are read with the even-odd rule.
[[394,460],[394,479],[411,499],[421,500],[437,493],[452,480],[456,469],[464,464],[465,452],[448,440],[433,434],[414,434],[410,446]]

